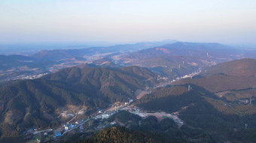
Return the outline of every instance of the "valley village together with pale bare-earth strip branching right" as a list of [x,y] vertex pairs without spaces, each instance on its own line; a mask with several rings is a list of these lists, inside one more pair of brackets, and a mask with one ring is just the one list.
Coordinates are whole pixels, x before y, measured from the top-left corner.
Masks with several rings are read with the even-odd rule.
[[[56,129],[40,130],[32,128],[27,130],[26,132],[23,132],[23,136],[24,139],[29,140],[28,143],[42,141],[53,142],[74,130],[78,133],[87,133],[102,130],[105,127],[111,127],[114,124],[117,124],[115,121],[105,121],[104,123],[102,123],[102,121],[110,118],[111,115],[116,114],[120,110],[126,110],[127,112],[139,115],[142,118],[147,118],[148,116],[155,116],[158,120],[161,120],[163,118],[172,118],[172,120],[175,121],[178,127],[181,127],[184,124],[184,122],[181,121],[180,118],[178,118],[178,115],[175,115],[174,113],[169,114],[166,112],[147,112],[139,109],[136,106],[133,106],[132,103],[133,100],[130,100],[128,103],[115,103],[108,109],[99,109],[99,111],[95,115],[90,116],[90,118],[87,118],[86,120],[75,121],[75,116],[75,118],[72,118],[72,120],[68,121],[66,124],[63,124],[61,127],[58,127]],[[91,124],[93,125],[93,127],[87,127],[86,124],[90,123],[91,121],[94,121],[94,123]]]

